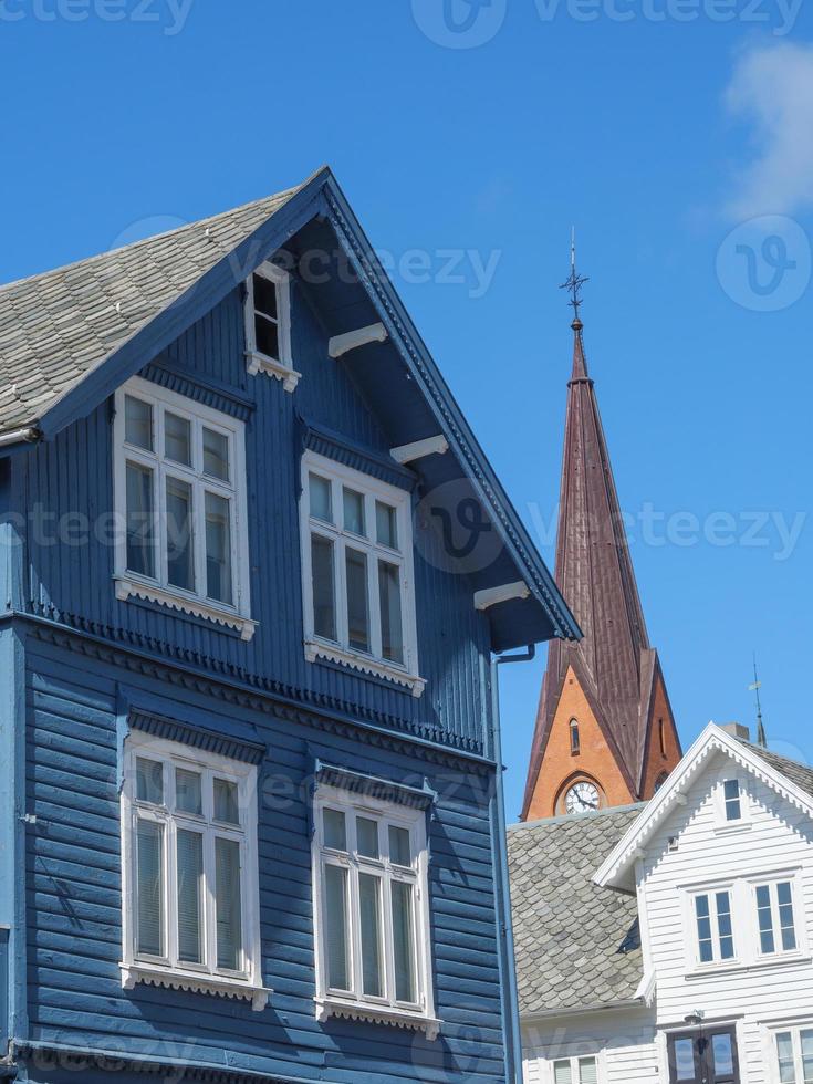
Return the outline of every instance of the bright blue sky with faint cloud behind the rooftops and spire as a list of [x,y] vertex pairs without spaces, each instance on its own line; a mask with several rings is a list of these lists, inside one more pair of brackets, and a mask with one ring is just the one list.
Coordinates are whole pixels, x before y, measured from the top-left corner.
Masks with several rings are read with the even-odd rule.
[[552,561],[575,223],[684,740],[752,721],[755,649],[811,758],[812,43],[798,0],[0,0],[0,281],[330,163]]

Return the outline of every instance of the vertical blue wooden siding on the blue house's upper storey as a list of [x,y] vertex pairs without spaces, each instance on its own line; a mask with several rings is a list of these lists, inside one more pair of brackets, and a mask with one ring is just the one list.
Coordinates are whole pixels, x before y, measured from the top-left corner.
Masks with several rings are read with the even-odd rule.
[[[295,284],[292,311],[294,364],[302,373],[293,395],[275,379],[247,374],[239,289],[154,359],[179,372],[194,371],[253,406],[248,410],[247,463],[252,616],[260,627],[252,643],[149,603],[117,602],[108,545],[93,536],[83,548],[50,544],[31,525],[28,571],[17,605],[259,688],[478,751],[486,710],[480,660],[488,653],[488,623],[473,609],[467,577],[441,571],[442,562],[432,560],[438,543],[428,525],[416,523],[416,531],[425,534],[416,552],[418,648],[421,676],[428,681],[424,696],[416,699],[388,682],[304,659],[295,413],[375,451],[387,451],[389,444],[354,385],[352,357],[329,359],[324,332]],[[100,407],[19,460],[20,499],[27,509],[46,518],[80,512],[92,523],[110,511],[110,409],[108,404]],[[48,530],[52,521],[44,522]]]

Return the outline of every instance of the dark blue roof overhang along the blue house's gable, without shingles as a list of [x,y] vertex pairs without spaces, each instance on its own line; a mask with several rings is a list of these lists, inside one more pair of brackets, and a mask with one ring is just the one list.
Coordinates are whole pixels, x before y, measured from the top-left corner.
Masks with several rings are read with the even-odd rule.
[[[341,304],[331,305],[330,293],[320,299],[329,302],[325,306],[330,316],[325,324],[331,324],[325,326],[329,338],[378,324],[384,330],[366,336],[358,348],[343,352],[330,364],[347,367],[351,379],[361,386],[382,420],[394,449],[437,438],[448,446],[447,454],[421,457],[410,462],[409,468],[415,470],[420,492],[431,494],[432,508],[441,512],[445,509],[452,519],[459,514],[461,501],[473,500],[497,542],[489,560],[461,564],[459,571],[466,574],[472,588],[471,605],[475,606],[473,595],[478,592],[517,582],[528,588],[513,597],[500,598],[486,611],[492,650],[510,650],[552,638],[580,638],[575,618],[530,533],[326,167],[171,303],[146,320],[107,356],[94,362],[76,384],[61,393],[30,425],[35,427],[38,436],[49,439],[86,416],[222,301],[257,267],[281,250],[295,250],[298,239],[319,240],[325,230],[334,239],[332,249],[343,253],[356,280],[351,286],[342,285]],[[325,286],[330,289],[330,284]]]

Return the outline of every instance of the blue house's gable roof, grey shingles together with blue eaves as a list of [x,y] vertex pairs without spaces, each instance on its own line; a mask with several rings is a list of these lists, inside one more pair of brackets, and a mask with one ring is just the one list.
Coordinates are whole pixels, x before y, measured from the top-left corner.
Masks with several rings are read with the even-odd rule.
[[[472,573],[476,590],[518,579],[528,588],[487,611],[492,649],[577,638],[527,528],[326,167],[275,196],[0,288],[0,455],[50,439],[90,413],[314,222],[333,230],[388,337],[383,353],[371,346],[366,361],[358,351],[358,359],[338,364],[353,364],[373,406],[405,430],[396,445],[446,438],[451,454],[423,460],[423,481],[435,492],[450,481],[457,492],[462,486],[500,543],[491,564]],[[343,319],[354,312],[348,306]]]

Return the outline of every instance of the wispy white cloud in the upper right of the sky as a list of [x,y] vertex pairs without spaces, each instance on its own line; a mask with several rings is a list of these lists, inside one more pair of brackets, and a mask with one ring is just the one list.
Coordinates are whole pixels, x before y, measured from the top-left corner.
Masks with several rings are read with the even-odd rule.
[[751,126],[754,147],[728,202],[732,217],[813,207],[813,46],[750,49],[737,63],[726,104]]

